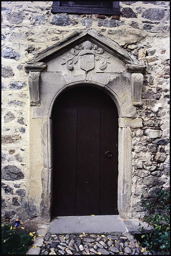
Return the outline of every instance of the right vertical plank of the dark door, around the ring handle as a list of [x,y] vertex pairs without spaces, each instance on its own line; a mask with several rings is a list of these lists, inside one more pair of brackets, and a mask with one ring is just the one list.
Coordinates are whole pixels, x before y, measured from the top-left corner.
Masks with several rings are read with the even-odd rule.
[[[101,109],[100,120],[100,215],[118,214],[117,180],[118,180],[118,114],[115,110]],[[112,157],[106,157],[110,151]]]

